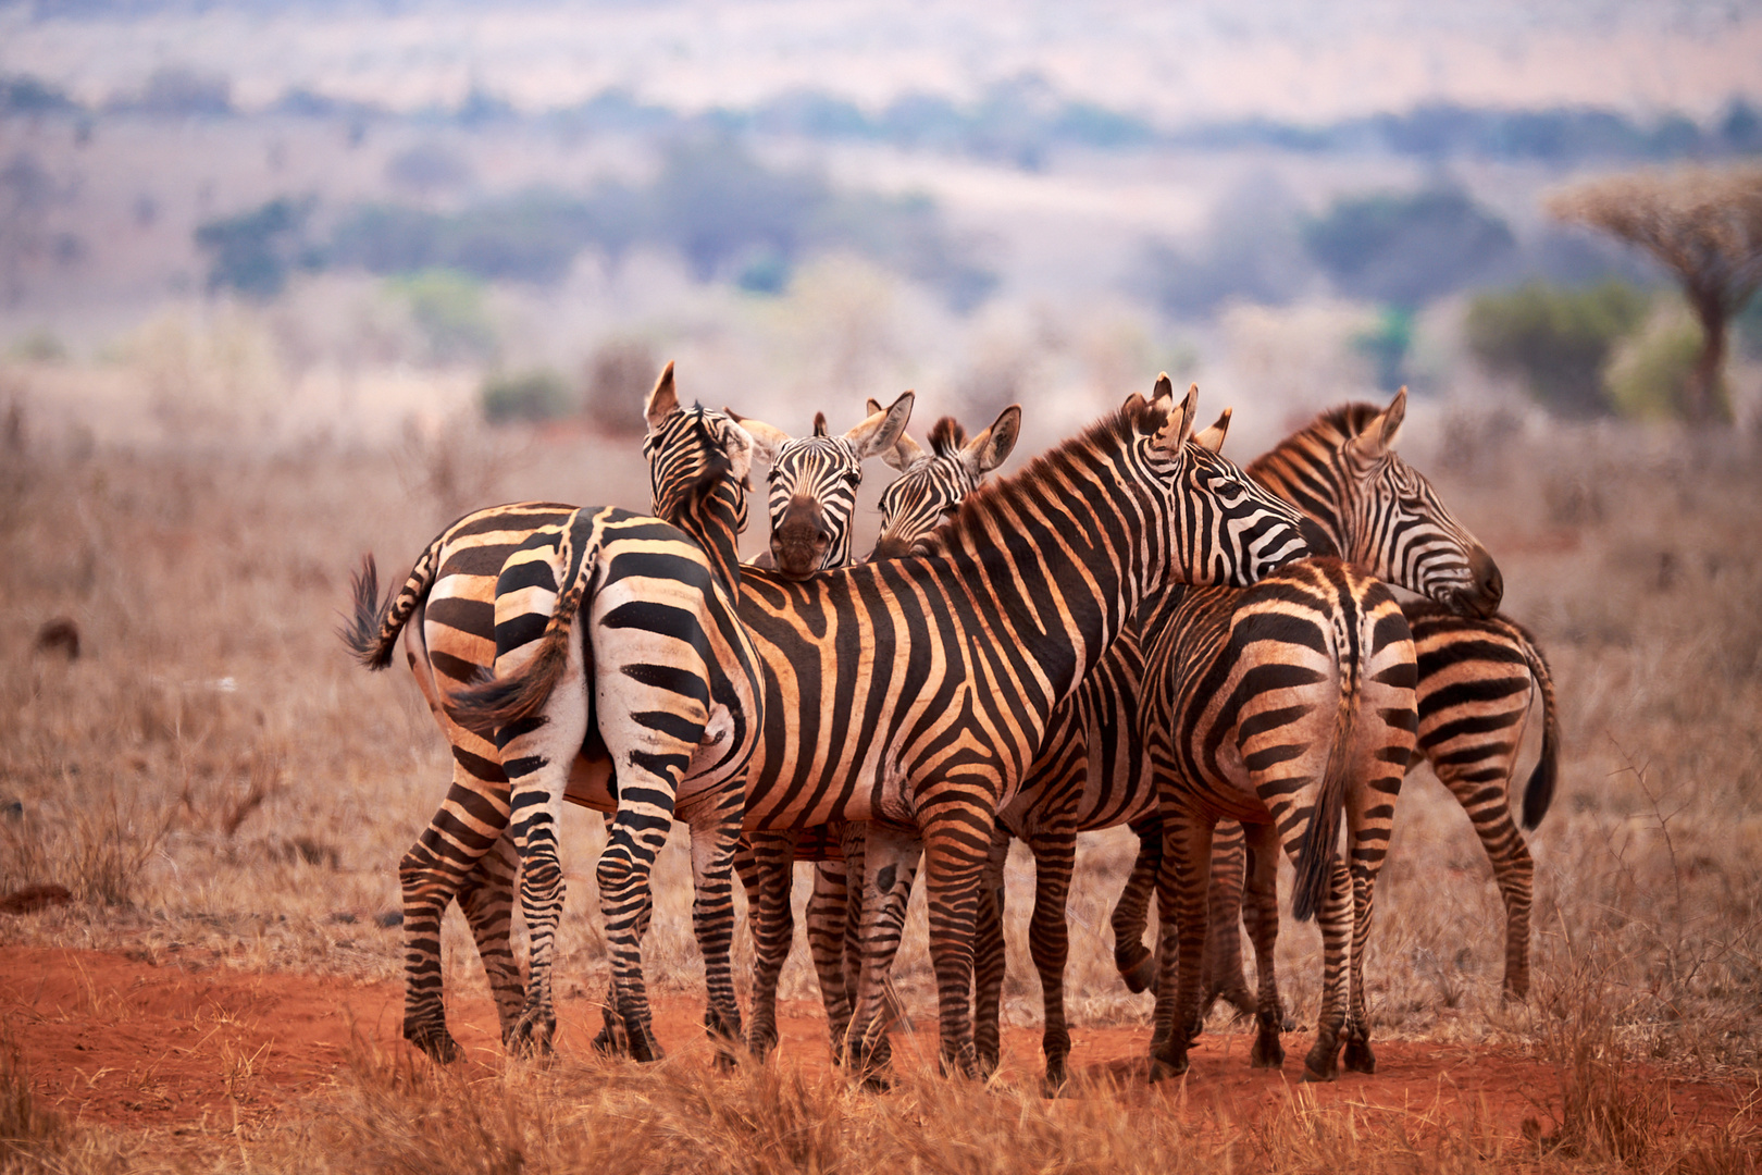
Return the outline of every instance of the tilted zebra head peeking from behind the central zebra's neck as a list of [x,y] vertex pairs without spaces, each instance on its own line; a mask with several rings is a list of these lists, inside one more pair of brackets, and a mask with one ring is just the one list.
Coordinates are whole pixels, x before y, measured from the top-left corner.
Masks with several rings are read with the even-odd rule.
[[[869,402],[869,410],[881,405]],[[955,513],[960,499],[990,470],[1003,465],[1022,433],[1022,409],[1010,405],[992,426],[973,440],[951,416],[930,428],[930,451],[900,433],[881,460],[900,470],[900,477],[881,491],[881,537],[869,560],[909,555],[913,544]]]

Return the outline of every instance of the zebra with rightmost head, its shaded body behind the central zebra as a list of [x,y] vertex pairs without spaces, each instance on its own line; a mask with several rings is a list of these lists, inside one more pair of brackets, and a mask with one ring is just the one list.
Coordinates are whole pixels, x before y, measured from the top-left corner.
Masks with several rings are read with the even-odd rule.
[[[1346,405],[1323,412],[1253,462],[1247,472],[1281,497],[1293,497],[1286,490],[1290,484],[1304,486],[1311,518],[1327,532],[1327,541],[1336,550],[1359,551],[1373,571],[1461,606],[1496,606],[1503,590],[1496,564],[1454,520],[1429,483],[1394,451],[1404,412],[1404,393],[1397,393],[1383,410]],[[1200,440],[1218,447],[1226,430],[1228,416],[1200,433]],[[1274,469],[1281,470],[1276,477],[1269,474]],[[1387,553],[1373,550],[1374,544],[1366,539],[1374,534],[1385,536]],[[1477,590],[1471,585],[1480,587]],[[1129,824],[1138,833],[1144,847],[1112,920],[1115,964],[1131,990],[1145,990],[1156,978],[1156,958],[1140,941],[1161,861],[1156,782],[1147,770],[1136,726],[1144,680],[1140,641],[1140,625],[1128,625],[1096,671],[1054,713],[1022,791],[999,814],[999,835],[992,847],[987,874],[987,895],[992,900],[983,911],[976,962],[976,1043],[981,1060],[996,1064],[1003,987],[1003,861],[1008,837],[1015,835],[1034,856],[1036,891],[1029,942],[1041,981],[1048,1087],[1062,1083],[1070,1053],[1064,1022],[1064,964],[1070,950],[1064,904],[1077,831]],[[997,920],[992,918],[992,904],[999,907]],[[1256,1008],[1246,992],[1237,1006],[1246,1006],[1249,1013]]]

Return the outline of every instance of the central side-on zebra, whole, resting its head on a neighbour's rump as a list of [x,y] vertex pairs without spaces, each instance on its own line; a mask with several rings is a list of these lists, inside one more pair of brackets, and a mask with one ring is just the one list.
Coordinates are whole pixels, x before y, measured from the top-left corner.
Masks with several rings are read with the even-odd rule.
[[[1196,389],[1166,375],[1025,472],[971,495],[923,551],[803,583],[752,573],[740,613],[766,668],[747,831],[867,830],[863,965],[849,1059],[885,1066],[881,990],[920,853],[943,1057],[973,1068],[974,883],[990,823],[1047,715],[1168,578],[1247,583],[1307,551],[1299,516],[1184,444]],[[1004,536],[999,543],[997,536]],[[774,1038],[789,944],[789,837],[754,842],[761,886],[749,1046]]]

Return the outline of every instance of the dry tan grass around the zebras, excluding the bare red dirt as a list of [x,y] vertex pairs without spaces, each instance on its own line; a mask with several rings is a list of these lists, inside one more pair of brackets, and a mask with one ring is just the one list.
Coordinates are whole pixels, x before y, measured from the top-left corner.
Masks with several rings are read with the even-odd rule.
[[[53,1126],[9,1062],[14,1149],[0,1170],[1753,1170],[1751,1117],[1676,1131],[1662,1075],[1762,1075],[1762,454],[1737,439],[1489,430],[1454,463],[1418,440],[1410,456],[1499,557],[1508,611],[1551,657],[1566,747],[1554,810],[1531,837],[1529,1004],[1501,1008],[1491,870],[1455,803],[1415,775],[1380,890],[1374,1031],[1554,1059],[1565,1113],[1533,1138],[1441,1106],[1394,1119],[1297,1097],[1232,1124],[1170,1115],[1163,1094],[1142,1090],[1048,1105],[907,1078],[876,1099],[775,1066],[712,1076],[692,1055],[641,1071],[557,1062],[467,1076],[363,1052],[324,1106],[248,1136],[152,1145]],[[248,969],[398,976],[398,934],[374,916],[398,907],[395,863],[433,810],[448,757],[407,673],[361,673],[331,631],[363,551],[396,567],[448,521],[428,495],[442,483],[486,500],[647,495],[634,453],[585,439],[254,462],[7,453],[0,891],[55,883],[76,902],[0,916],[0,944],[150,958],[178,944],[185,958]],[[53,617],[78,622],[79,659],[32,650]],[[571,814],[566,833],[578,916],[564,923],[560,995],[590,997],[567,1015],[603,990],[606,955],[585,916],[601,823]],[[678,840],[659,867],[647,960],[657,988],[696,992]],[[1147,1024],[1147,997],[1112,974],[1107,930],[1133,844],[1122,831],[1084,839],[1068,976],[1078,1025]],[[1040,1008],[1029,877],[1013,858],[1017,1024],[1038,1024]],[[338,914],[356,920],[347,939]],[[1314,939],[1299,927],[1281,941],[1299,1022],[1318,995]],[[448,983],[481,992],[456,918],[446,946]],[[897,979],[934,1025],[922,907]],[[784,995],[816,995],[805,950]],[[252,1059],[233,1060],[233,1080],[248,1083]]]

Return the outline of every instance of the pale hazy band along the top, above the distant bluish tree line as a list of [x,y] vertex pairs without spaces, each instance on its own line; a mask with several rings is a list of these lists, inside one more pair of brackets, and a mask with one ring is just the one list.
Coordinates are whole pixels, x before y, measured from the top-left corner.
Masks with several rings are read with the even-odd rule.
[[[264,11],[273,9],[273,11]],[[386,11],[395,9],[395,11]],[[516,106],[606,88],[678,109],[812,88],[883,106],[1034,72],[1159,122],[1330,120],[1447,99],[1709,115],[1762,97],[1762,2],[1711,0],[758,0],[751,4],[227,5],[137,19],[0,5],[0,70],[85,100],[153,69],[226,72],[234,100],[291,86],[391,107],[472,85]]]

